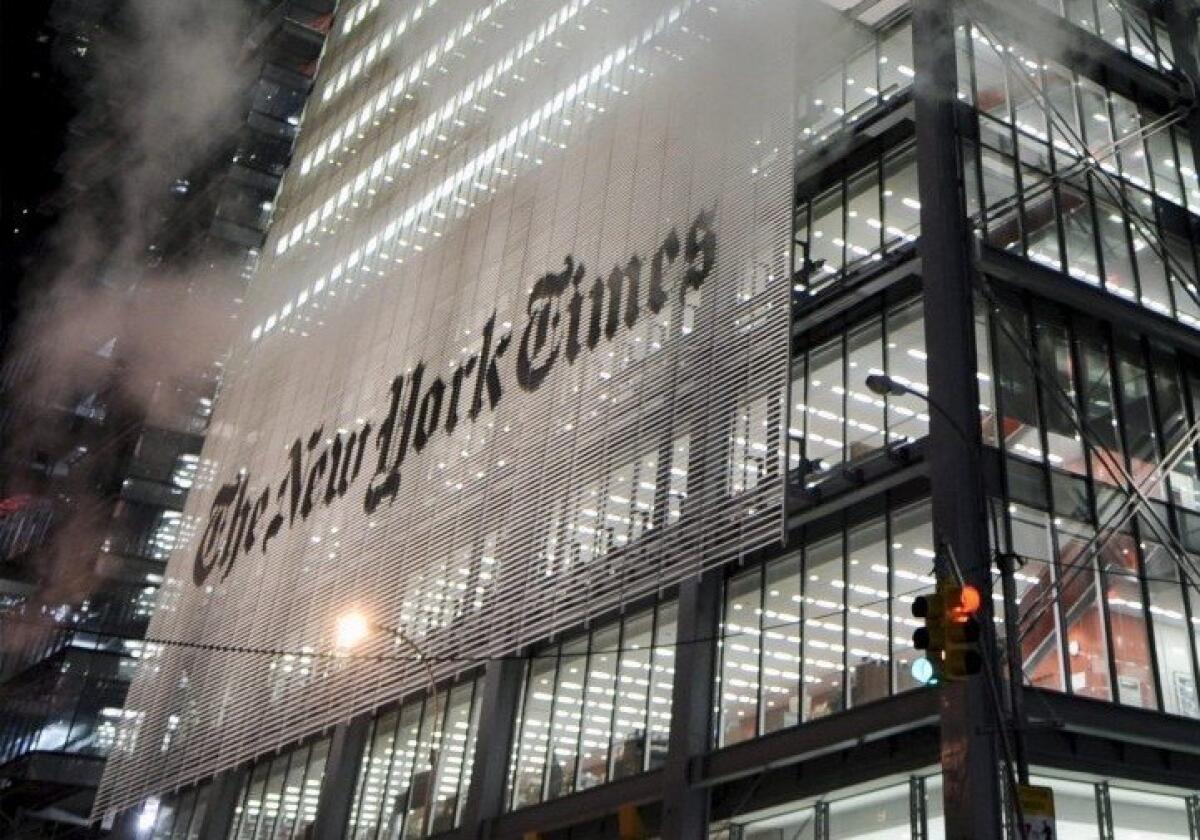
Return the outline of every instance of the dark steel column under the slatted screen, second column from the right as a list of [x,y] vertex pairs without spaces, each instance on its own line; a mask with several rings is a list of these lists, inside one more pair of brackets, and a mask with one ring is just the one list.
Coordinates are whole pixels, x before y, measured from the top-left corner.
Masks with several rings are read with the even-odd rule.
[[679,586],[679,644],[671,696],[671,736],[662,768],[662,830],[672,840],[708,836],[708,788],[694,766],[712,740],[713,674],[720,632],[721,577],[709,571]]

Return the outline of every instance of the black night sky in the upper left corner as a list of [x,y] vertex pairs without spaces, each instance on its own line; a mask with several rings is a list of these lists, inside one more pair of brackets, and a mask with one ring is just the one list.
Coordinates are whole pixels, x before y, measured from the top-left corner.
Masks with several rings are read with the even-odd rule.
[[0,338],[10,334],[17,288],[36,262],[38,235],[54,221],[41,208],[58,185],[54,167],[70,118],[50,58],[50,2],[0,2],[0,102],[7,115],[0,150]]

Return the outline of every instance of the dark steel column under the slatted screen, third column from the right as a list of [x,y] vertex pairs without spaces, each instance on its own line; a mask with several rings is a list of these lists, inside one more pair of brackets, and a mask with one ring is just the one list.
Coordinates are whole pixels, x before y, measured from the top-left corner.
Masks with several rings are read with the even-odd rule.
[[504,784],[512,754],[512,727],[521,701],[524,660],[487,664],[480,702],[479,736],[470,770],[470,788],[463,808],[461,838],[486,838],[491,822],[504,812]]

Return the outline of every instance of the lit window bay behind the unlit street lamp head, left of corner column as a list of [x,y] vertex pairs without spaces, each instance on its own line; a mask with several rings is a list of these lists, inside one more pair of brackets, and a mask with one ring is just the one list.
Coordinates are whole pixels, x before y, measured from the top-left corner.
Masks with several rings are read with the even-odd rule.
[[866,378],[880,373],[918,394],[926,391],[919,299],[883,305],[862,323],[793,355],[788,460],[808,485],[833,468],[928,434],[929,406],[920,397],[880,396],[868,389]]

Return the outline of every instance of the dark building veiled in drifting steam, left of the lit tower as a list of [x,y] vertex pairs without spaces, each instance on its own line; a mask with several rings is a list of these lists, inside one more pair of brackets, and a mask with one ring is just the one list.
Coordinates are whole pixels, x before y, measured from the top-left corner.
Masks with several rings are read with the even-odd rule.
[[[52,314],[6,334],[0,365],[0,833],[95,836],[92,800],[221,374],[215,342],[163,324],[194,300],[236,317],[331,5],[229,4],[221,32],[204,34],[238,58],[228,86],[185,85],[229,119],[186,150],[145,136],[146,79],[169,76],[149,58],[164,36],[144,31],[148,6],[46,6],[44,70],[77,113],[61,190],[35,208],[49,233],[28,254],[44,270],[29,272],[25,302],[49,287]],[[146,364],[148,343],[162,364]]]

